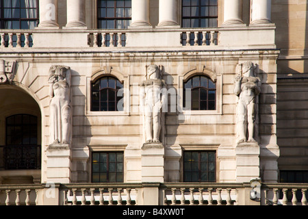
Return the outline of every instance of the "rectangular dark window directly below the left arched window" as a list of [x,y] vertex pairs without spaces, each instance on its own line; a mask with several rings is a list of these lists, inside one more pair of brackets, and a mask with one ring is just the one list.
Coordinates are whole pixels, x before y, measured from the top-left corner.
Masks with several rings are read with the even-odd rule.
[[92,153],[92,183],[123,182],[123,152]]

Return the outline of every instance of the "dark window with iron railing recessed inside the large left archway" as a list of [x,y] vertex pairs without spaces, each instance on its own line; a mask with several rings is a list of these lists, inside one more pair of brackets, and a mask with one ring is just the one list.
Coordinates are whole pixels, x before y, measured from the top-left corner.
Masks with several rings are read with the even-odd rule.
[[5,169],[39,168],[38,118],[28,114],[9,116],[5,127]]

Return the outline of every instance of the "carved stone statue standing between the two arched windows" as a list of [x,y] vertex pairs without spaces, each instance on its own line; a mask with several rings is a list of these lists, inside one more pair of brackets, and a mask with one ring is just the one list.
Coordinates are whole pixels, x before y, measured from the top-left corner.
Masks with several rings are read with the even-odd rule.
[[146,69],[146,80],[141,85],[140,105],[144,116],[145,142],[161,142],[162,109],[166,103],[166,82],[162,79],[162,70],[157,65]]

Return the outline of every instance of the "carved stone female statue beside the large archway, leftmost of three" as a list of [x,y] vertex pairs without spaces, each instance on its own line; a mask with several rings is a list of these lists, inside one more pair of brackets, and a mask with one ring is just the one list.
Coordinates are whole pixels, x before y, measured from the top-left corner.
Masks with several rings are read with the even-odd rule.
[[49,70],[50,144],[70,144],[70,67],[51,66]]

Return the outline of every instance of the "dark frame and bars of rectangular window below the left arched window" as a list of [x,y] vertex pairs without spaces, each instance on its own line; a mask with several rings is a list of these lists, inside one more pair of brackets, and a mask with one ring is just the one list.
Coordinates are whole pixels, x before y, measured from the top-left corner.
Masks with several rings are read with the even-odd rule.
[[[107,155],[107,161],[105,162],[106,163],[106,169],[107,169],[107,171],[106,171],[107,181],[101,181],[101,168],[100,167],[99,167],[99,172],[93,171],[93,169],[94,169],[93,168],[93,164],[94,164],[93,159],[94,159],[95,153],[99,154],[99,157],[101,156],[102,153],[105,153]],[[117,157],[118,154],[122,155],[122,162],[117,162],[117,160],[116,160],[116,162],[113,162],[115,164],[114,174],[115,174],[116,180],[110,181],[110,170],[109,170],[109,168],[110,168],[110,154],[113,154],[113,153],[116,154],[115,157]],[[124,160],[124,151],[92,151],[92,153],[91,153],[91,182],[92,183],[123,183],[124,177],[125,177],[124,176],[124,174],[125,174],[125,162],[124,161],[125,161]],[[99,166],[100,166],[100,164],[103,163],[103,162],[98,162],[98,163],[99,163]],[[116,164],[122,164],[122,171],[116,170],[116,168],[117,168]],[[119,172],[122,172],[122,179],[120,181],[117,181],[117,173],[119,173]],[[93,178],[94,178],[93,174],[95,174],[95,173],[99,173],[99,181],[93,181]]]

